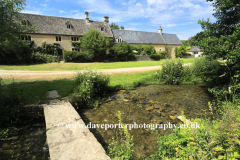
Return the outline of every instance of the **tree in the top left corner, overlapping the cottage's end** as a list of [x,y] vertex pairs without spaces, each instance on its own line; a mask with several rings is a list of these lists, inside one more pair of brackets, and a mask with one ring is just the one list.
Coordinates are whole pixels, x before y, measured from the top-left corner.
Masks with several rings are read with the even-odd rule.
[[34,32],[33,26],[20,24],[18,12],[24,9],[25,2],[26,0],[0,1],[0,45],[6,40],[16,43],[23,32]]

